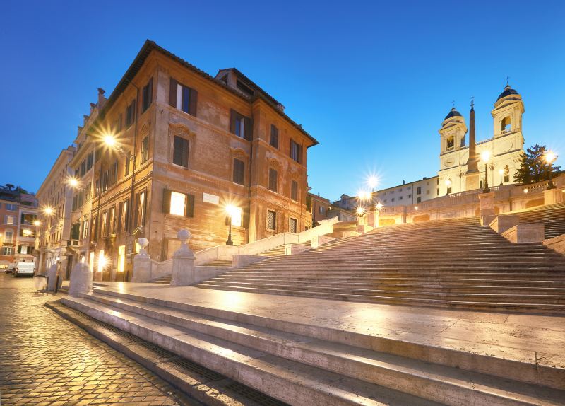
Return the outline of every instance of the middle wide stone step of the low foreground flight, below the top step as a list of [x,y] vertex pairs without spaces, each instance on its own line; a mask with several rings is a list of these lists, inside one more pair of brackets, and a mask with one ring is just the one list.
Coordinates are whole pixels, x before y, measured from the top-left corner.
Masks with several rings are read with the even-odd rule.
[[[94,298],[94,300],[104,303],[101,306],[105,308],[106,314],[112,312],[112,306],[119,308],[125,313],[122,320],[126,319],[126,316],[130,313],[136,315],[136,318],[162,320],[167,325],[174,326],[173,328],[182,329],[183,332],[188,331],[192,335],[195,335],[196,332],[198,338],[204,335],[205,337],[214,337],[216,340],[226,340],[231,346],[239,344],[241,347],[251,347],[268,354],[256,356],[257,359],[268,359],[273,364],[275,364],[274,361],[278,361],[276,365],[287,364],[298,371],[308,370],[309,368],[318,369],[322,372],[322,376],[328,373],[339,374],[342,377],[342,385],[344,381],[347,381],[347,383],[354,382],[362,387],[366,387],[366,385],[361,385],[362,383],[369,383],[367,391],[370,391],[371,386],[376,386],[376,388],[386,388],[388,391],[393,390],[397,393],[424,394],[424,397],[428,400],[441,402],[444,405],[487,403],[496,405],[557,405],[557,400],[561,398],[561,395],[564,395],[561,390],[543,388],[528,383],[517,383],[482,373],[462,371],[444,365],[431,364],[404,356],[351,347],[326,340],[313,340],[311,337],[246,323],[234,323],[221,318],[205,318],[196,313],[166,309],[134,301],[120,300],[116,303],[113,298]],[[100,308],[98,310],[101,311]],[[173,341],[175,337],[177,336],[171,337],[170,341]],[[206,341],[212,342],[209,339]],[[216,342],[218,341],[214,341],[214,344]],[[230,347],[230,345],[226,347]],[[286,362],[281,362],[280,359],[285,359]],[[259,363],[254,363],[254,366],[256,364]],[[299,367],[297,368],[297,366]],[[352,381],[351,378],[355,381]],[[423,391],[423,387],[427,390]],[[423,402],[422,399],[404,400]],[[542,403],[539,403],[540,400]],[[337,403],[331,402],[329,404]]]

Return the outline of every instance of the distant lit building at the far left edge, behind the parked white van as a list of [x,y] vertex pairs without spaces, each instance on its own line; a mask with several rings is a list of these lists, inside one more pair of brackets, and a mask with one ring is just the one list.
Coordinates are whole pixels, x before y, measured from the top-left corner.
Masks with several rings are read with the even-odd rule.
[[34,261],[37,199],[13,185],[0,186],[0,267]]

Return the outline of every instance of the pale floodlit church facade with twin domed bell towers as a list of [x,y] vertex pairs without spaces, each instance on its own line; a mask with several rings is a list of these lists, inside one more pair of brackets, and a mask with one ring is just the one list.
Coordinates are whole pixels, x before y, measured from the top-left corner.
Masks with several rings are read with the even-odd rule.
[[[485,163],[481,159],[489,152],[488,184],[490,186],[514,183],[514,174],[520,167],[523,151],[522,97],[510,86],[496,99],[492,110],[494,132],[491,139],[475,141],[475,111],[471,107],[469,131],[465,118],[455,108],[446,116],[439,129],[439,196],[476,190],[484,185]],[[467,142],[467,134],[469,140]]]

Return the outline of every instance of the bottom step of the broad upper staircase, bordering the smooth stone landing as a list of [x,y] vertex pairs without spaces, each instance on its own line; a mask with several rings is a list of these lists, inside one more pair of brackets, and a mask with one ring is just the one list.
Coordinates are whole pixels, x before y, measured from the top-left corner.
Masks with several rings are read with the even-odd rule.
[[515,302],[489,302],[489,301],[465,301],[463,298],[459,300],[444,298],[409,298],[409,297],[392,297],[392,296],[372,296],[372,295],[355,295],[355,294],[338,294],[328,292],[315,292],[303,290],[284,290],[277,287],[276,289],[250,288],[244,286],[227,286],[227,285],[211,285],[206,283],[196,284],[195,286],[203,289],[220,289],[227,291],[243,291],[257,294],[275,294],[286,296],[303,296],[312,298],[326,298],[339,301],[358,301],[369,303],[396,304],[400,306],[426,306],[441,308],[471,308],[473,310],[488,311],[521,311],[535,312],[545,314],[563,314],[565,313],[565,305],[553,303],[515,303]]

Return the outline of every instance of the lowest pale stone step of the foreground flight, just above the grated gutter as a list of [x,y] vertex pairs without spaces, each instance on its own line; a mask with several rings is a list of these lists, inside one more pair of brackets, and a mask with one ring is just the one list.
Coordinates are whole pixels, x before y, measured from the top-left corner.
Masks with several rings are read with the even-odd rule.
[[439,405],[112,306],[62,302],[290,405]]

